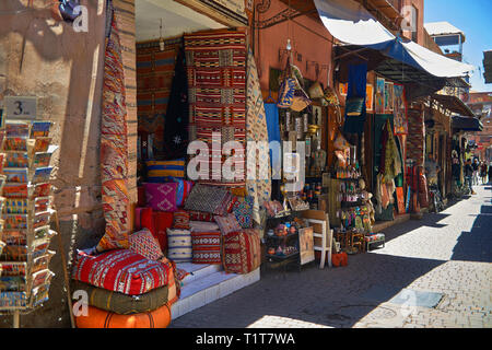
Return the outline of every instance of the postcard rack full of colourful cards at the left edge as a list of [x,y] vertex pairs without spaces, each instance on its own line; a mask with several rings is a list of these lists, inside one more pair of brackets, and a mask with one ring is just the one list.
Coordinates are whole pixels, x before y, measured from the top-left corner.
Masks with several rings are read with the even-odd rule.
[[48,300],[52,210],[51,121],[9,120],[0,129],[0,314],[25,314]]

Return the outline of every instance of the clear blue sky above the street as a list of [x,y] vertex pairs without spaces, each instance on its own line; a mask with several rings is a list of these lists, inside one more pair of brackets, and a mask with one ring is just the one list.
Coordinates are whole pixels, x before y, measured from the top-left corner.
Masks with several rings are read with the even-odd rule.
[[492,0],[424,0],[424,23],[442,21],[465,33],[464,61],[476,67],[471,90],[492,91],[483,78],[483,51],[492,50]]

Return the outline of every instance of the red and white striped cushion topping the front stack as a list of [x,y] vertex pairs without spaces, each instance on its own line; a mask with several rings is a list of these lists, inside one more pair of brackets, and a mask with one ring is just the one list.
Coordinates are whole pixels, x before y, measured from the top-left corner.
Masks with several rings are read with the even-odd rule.
[[128,295],[148,293],[167,284],[169,269],[130,249],[98,255],[79,252],[72,271],[74,280]]

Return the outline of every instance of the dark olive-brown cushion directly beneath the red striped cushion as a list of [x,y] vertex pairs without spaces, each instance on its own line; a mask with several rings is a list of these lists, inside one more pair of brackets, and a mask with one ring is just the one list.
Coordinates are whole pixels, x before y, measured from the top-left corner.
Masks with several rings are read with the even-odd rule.
[[89,305],[120,315],[150,312],[163,306],[168,301],[168,285],[140,295],[113,292],[79,281],[74,282],[73,288],[73,290],[83,290],[87,293]]

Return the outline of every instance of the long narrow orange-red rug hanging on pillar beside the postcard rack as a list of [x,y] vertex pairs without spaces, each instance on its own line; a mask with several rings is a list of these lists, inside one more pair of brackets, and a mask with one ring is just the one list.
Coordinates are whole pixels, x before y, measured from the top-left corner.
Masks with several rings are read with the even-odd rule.
[[106,37],[101,122],[102,202],[105,234],[97,252],[128,248],[129,196],[125,74],[116,15],[110,2],[110,28]]

